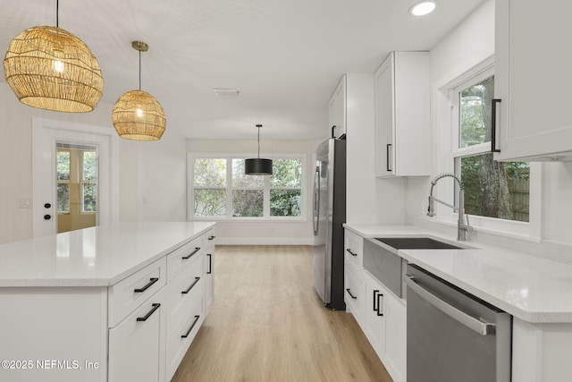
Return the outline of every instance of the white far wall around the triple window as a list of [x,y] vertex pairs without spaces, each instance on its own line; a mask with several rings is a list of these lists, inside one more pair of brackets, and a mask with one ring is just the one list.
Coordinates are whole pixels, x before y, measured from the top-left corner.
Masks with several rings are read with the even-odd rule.
[[[261,157],[279,154],[301,154],[306,157],[306,174],[304,179],[306,214],[304,221],[275,223],[268,221],[259,223],[221,221],[216,225],[217,242],[220,244],[312,245],[314,243],[312,225],[313,156],[319,143],[320,141],[308,140],[269,141],[264,140],[264,138],[260,140]],[[189,154],[248,154],[248,156],[256,157],[257,140],[187,140],[187,151]]]

